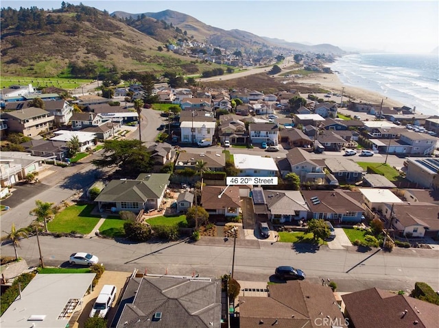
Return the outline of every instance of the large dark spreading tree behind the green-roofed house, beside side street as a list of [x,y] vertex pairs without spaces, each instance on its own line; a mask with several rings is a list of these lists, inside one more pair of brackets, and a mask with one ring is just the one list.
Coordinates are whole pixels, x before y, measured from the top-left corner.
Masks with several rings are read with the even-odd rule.
[[102,157],[92,163],[101,168],[119,166],[130,176],[149,172],[151,168],[150,153],[140,140],[106,140]]

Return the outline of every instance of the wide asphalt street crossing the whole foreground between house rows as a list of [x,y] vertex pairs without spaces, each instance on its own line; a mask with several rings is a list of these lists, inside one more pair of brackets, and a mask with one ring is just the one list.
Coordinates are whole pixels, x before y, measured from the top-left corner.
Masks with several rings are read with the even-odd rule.
[[[69,255],[88,251],[99,257],[107,270],[169,275],[218,277],[229,273],[232,266],[233,240],[202,238],[199,242],[150,242],[127,244],[101,238],[40,237],[45,264],[69,266]],[[12,245],[3,245],[2,255],[14,254]],[[234,275],[239,280],[275,281],[274,268],[292,265],[301,268],[309,281],[319,283],[331,279],[338,291],[355,291],[378,287],[386,290],[410,290],[416,281],[425,281],[439,289],[438,253],[425,249],[394,249],[385,253],[379,249],[359,252],[356,247],[331,250],[327,247],[294,248],[292,244],[263,240],[237,240]],[[38,265],[36,238],[21,241],[19,256],[32,266]]]

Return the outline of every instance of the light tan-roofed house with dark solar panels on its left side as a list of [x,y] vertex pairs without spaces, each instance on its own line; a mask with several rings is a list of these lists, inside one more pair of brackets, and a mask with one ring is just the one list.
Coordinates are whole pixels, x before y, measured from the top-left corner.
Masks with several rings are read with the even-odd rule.
[[[309,207],[298,190],[252,189],[254,213],[272,222],[291,223],[307,218]],[[274,221],[276,220],[276,221]]]

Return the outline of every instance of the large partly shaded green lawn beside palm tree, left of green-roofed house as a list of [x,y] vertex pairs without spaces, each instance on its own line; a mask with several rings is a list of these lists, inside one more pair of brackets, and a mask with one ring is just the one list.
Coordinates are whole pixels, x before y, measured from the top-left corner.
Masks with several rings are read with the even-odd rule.
[[51,232],[77,231],[79,234],[89,234],[99,222],[100,216],[90,213],[95,205],[72,205],[55,215],[54,220],[47,223]]

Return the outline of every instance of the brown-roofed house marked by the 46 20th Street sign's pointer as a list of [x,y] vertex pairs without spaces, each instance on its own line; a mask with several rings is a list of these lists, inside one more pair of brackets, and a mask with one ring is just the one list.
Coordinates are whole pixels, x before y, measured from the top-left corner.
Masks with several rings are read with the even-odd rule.
[[203,186],[201,206],[209,214],[239,216],[239,186]]

